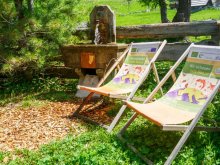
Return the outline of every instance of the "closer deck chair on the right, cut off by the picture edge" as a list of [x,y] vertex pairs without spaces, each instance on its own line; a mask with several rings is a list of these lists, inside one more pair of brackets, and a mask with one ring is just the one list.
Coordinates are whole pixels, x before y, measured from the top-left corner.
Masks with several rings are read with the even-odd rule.
[[[185,58],[183,70],[174,85],[160,99],[150,102]],[[219,79],[220,47],[191,44],[143,103],[126,101],[127,106],[135,113],[117,134],[119,139],[126,142],[146,163],[152,164],[123,137],[125,130],[134,119],[141,115],[162,127],[162,130],[184,131],[183,136],[165,162],[165,164],[171,164],[193,130],[220,131],[219,127],[196,126],[219,89]],[[190,124],[186,125],[186,122]]]

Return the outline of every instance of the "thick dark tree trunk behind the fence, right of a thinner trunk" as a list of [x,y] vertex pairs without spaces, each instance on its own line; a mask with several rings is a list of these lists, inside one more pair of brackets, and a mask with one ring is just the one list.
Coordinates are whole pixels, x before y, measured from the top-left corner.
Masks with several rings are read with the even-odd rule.
[[191,0],[179,0],[177,13],[173,18],[173,22],[189,22],[191,11]]

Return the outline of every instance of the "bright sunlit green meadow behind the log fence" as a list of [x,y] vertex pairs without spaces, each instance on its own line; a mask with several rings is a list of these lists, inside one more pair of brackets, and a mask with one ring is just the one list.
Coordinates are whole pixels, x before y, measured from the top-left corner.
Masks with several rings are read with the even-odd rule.
[[[95,0],[89,1],[90,8],[95,5],[109,5],[116,14],[117,26],[142,25],[160,23],[160,10],[156,8],[151,12],[146,12],[146,7],[141,6],[138,0],[132,0],[128,5],[127,0]],[[201,21],[215,19],[220,20],[219,9],[207,8],[205,10],[192,13],[191,21]],[[176,10],[168,9],[168,19],[172,21]],[[87,18],[89,20],[89,18]]]

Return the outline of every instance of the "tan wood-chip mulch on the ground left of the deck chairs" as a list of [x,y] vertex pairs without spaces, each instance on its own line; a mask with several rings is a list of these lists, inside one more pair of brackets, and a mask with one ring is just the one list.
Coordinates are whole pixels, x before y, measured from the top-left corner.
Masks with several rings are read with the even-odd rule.
[[[42,144],[65,137],[78,135],[86,131],[82,120],[70,116],[80,102],[47,102],[40,106],[23,108],[21,105],[0,107],[0,150],[38,149]],[[106,115],[109,105],[95,107],[93,103],[83,112],[96,121],[109,123],[112,119]],[[95,107],[95,108],[94,108]],[[98,108],[101,108],[97,111]],[[83,126],[84,125],[84,126]]]

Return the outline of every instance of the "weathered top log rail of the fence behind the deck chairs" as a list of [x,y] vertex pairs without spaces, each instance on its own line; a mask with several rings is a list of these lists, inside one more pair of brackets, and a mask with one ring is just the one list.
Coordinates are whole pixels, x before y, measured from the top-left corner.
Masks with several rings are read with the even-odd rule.
[[[78,29],[79,32],[89,34],[89,28]],[[162,23],[137,26],[116,27],[116,38],[177,38],[185,36],[216,36],[219,33],[217,21]]]

